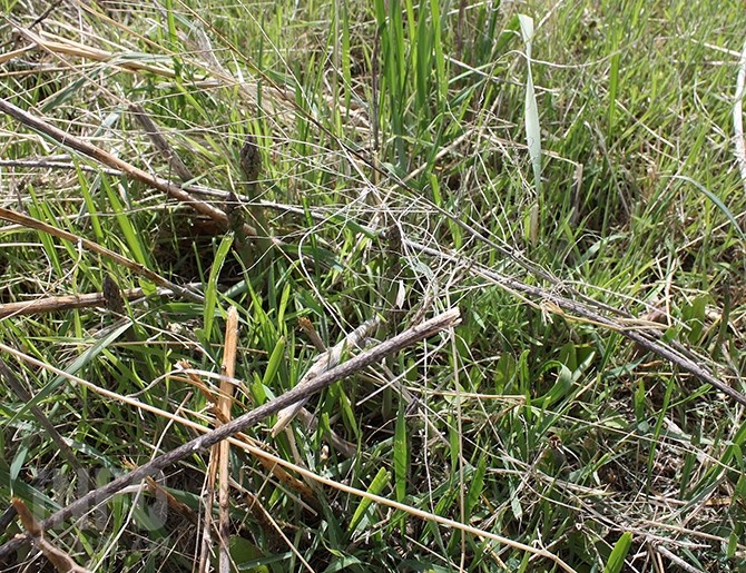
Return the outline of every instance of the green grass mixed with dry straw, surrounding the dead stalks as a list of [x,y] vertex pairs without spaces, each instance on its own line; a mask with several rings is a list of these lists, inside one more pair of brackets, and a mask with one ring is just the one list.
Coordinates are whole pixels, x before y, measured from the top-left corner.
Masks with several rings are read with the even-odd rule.
[[[80,244],[3,224],[0,303],[100,292],[107,275],[149,296],[126,305],[129,328],[104,308],[3,318],[0,343],[27,358],[0,358],[106,481],[197,435],[124,398],[210,426],[208,397],[169,374],[185,360],[216,392],[208,373],[220,372],[232,305],[234,416],[295,386],[317,356],[301,318],[331,347],[376,314],[389,318],[383,339],[458,305],[450,335],[315,397],[315,431],[296,421],[273,439],[268,419],[248,432],[325,480],[308,478],[313,498],[233,448],[242,571],[559,570],[494,536],[581,572],[739,571],[743,406],[552,298],[627,328],[658,309],[666,343],[746,392],[746,194],[732,118],[743,26],[736,3],[719,4],[66,3],[16,40],[12,27],[29,29],[45,7],[6,0],[0,58],[31,49],[0,66],[2,99],[177,181],[128,111],[141,105],[189,182],[224,191],[200,197],[224,208],[227,191],[255,192],[284,245],[203,230],[187,206],[0,116],[3,207],[204,294],[158,297]],[[112,56],[70,55],[59,39],[33,47],[42,32]],[[238,160],[248,134],[263,164],[252,194]],[[67,168],[7,162],[61,154]],[[239,223],[256,202],[244,197]],[[0,503],[21,497],[42,517],[87,477],[30,404],[0,388]],[[357,453],[333,447],[332,432]],[[161,476],[194,512],[207,464],[195,455]],[[130,491],[47,539],[98,571],[190,570],[202,525],[157,505]],[[11,520],[0,542],[19,531]],[[43,562],[24,552],[8,566],[32,559]]]

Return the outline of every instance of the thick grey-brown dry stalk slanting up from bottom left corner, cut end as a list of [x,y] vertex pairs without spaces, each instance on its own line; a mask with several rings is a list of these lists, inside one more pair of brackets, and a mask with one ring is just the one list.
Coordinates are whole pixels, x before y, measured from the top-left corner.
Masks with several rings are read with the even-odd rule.
[[[41,527],[46,531],[63,523],[69,517],[81,515],[96,505],[105,502],[128,485],[140,482],[189,455],[200,452],[207,447],[212,447],[223,439],[230,437],[236,432],[246,429],[247,427],[257,424],[267,416],[279,412],[282,408],[289,406],[291,404],[294,404],[300,399],[308,397],[317,392],[321,392],[335,382],[346,378],[352,374],[355,374],[356,372],[360,372],[361,369],[380,362],[386,356],[401,350],[402,348],[411,346],[412,344],[433,336],[446,328],[452,328],[460,322],[461,315],[459,309],[452,308],[431,318],[430,320],[413,326],[412,328],[404,330],[393,338],[379,344],[370,350],[351,358],[344,364],[341,364],[340,366],[321,374],[311,381],[307,385],[302,387],[296,386],[295,388],[276,397],[275,399],[258,406],[252,412],[248,412],[243,416],[239,416],[232,422],[224,424],[223,426],[217,427],[212,432],[208,432],[207,434],[196,437],[195,439],[192,439],[190,442],[187,442],[186,444],[171,449],[170,452],[161,454],[147,464],[141,465],[137,470],[128,472],[109,482],[107,485],[89,492],[88,494],[72,502],[70,505],[43,520],[41,522]],[[0,546],[0,561],[7,559],[12,552],[17,551],[24,543],[28,543],[28,537],[16,537],[4,543],[2,546]]]

